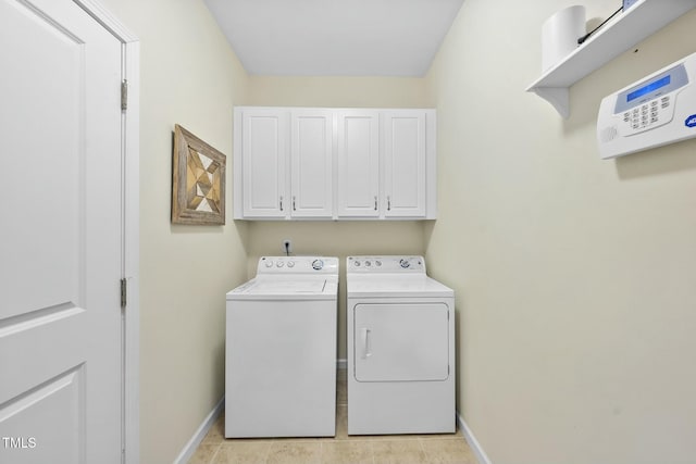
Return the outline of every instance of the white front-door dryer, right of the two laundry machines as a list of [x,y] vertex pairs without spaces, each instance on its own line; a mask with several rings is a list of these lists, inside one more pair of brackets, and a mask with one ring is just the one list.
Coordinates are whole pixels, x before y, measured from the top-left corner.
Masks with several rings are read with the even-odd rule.
[[348,434],[456,431],[455,293],[421,256],[348,256]]

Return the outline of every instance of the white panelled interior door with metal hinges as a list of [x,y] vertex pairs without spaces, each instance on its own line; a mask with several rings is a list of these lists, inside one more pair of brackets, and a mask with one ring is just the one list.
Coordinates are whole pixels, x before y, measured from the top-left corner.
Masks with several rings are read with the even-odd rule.
[[0,462],[122,461],[122,46],[0,0]]

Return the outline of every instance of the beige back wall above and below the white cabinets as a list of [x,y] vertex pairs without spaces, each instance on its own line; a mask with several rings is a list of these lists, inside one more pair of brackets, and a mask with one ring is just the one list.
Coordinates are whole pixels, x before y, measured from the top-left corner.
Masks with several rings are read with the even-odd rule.
[[[266,77],[249,79],[249,104],[265,106],[427,108],[425,80],[397,77]],[[250,222],[249,275],[259,256],[283,252],[293,240],[295,254],[340,259],[351,254],[423,254],[423,222]],[[339,287],[338,359],[346,354],[346,286]]]

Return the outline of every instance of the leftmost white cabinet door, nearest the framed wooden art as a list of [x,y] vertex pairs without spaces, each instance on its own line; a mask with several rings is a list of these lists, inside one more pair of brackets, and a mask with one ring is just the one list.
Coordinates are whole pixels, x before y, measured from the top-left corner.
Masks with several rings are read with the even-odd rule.
[[245,110],[241,124],[244,216],[285,217],[289,212],[286,193],[287,112]]

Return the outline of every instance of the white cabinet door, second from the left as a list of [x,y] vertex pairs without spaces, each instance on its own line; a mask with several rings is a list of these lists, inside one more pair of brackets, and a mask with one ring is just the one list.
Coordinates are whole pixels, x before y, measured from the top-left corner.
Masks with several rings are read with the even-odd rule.
[[296,110],[290,133],[290,216],[333,214],[333,112]]

